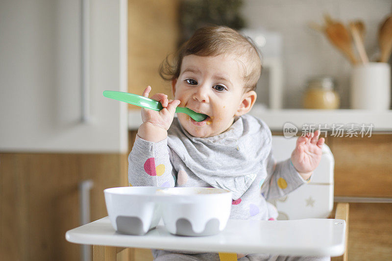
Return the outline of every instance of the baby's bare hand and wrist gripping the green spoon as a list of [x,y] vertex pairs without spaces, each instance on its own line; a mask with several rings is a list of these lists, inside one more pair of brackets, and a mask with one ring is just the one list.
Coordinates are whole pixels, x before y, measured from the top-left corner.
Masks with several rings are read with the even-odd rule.
[[[143,96],[148,98],[151,87],[143,92]],[[146,141],[160,142],[166,139],[170,125],[174,118],[175,108],[180,104],[179,100],[168,100],[168,95],[156,94],[151,97],[162,104],[163,109],[159,112],[142,108],[143,124],[140,125],[138,136]]]

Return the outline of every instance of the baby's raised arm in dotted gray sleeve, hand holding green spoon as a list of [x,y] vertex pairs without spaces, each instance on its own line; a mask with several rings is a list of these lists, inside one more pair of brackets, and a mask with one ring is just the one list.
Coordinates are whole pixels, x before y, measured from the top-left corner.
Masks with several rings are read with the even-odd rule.
[[[148,97],[148,86],[143,96]],[[128,157],[128,181],[131,186],[174,187],[167,130],[172,124],[179,100],[168,100],[164,94],[151,98],[161,102],[161,111],[142,109],[143,124]]]

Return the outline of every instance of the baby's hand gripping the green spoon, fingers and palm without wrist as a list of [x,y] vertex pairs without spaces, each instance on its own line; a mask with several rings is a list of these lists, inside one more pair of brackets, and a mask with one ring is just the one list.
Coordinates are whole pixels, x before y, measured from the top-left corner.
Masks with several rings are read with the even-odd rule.
[[[151,86],[143,92],[143,96],[148,98],[148,94],[151,91]],[[151,99],[157,100],[162,104],[163,109],[158,111],[142,108],[142,120],[143,123],[150,123],[156,127],[162,128],[167,131],[172,125],[174,118],[175,108],[180,104],[179,100],[168,100],[168,95],[155,94]]]

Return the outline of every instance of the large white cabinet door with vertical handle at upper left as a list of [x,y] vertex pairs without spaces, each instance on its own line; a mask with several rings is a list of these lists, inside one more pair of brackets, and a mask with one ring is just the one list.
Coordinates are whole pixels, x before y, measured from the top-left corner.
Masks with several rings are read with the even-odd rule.
[[0,151],[127,151],[126,0],[90,0],[91,121],[81,122],[80,0],[0,1]]

